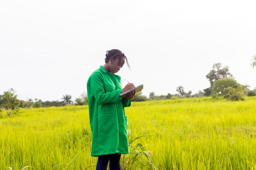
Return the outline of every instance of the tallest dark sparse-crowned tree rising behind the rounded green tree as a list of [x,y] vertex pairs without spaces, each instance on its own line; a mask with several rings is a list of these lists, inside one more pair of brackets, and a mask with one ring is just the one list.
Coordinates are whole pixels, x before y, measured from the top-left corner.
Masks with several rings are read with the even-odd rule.
[[213,69],[206,75],[206,78],[209,79],[211,87],[213,83],[218,79],[225,79],[225,78],[234,78],[231,73],[229,73],[228,66],[221,66],[221,63],[213,64]]

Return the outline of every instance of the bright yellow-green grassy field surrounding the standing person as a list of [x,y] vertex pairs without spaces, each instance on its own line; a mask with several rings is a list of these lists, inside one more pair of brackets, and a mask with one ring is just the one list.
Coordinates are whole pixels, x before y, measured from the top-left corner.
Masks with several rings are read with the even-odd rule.
[[[88,106],[2,115],[0,170],[63,170],[81,151],[68,170],[96,164],[97,157],[90,157]],[[131,136],[153,133],[139,141],[148,144],[159,170],[256,169],[256,97],[133,102],[126,115]]]

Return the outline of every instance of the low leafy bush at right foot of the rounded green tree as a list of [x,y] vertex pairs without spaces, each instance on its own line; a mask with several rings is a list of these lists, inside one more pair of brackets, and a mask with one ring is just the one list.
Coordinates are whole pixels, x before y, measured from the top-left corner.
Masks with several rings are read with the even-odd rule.
[[230,101],[245,100],[243,98],[244,92],[243,92],[242,85],[238,85],[237,88],[228,87],[227,91],[228,91],[228,93],[226,95],[224,95],[224,98],[226,98]]

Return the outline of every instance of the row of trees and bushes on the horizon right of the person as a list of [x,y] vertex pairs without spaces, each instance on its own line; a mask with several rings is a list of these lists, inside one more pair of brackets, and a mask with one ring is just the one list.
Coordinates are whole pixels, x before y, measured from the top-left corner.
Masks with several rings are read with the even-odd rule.
[[[251,66],[256,67],[256,55],[253,56]],[[244,96],[255,96],[256,87],[253,90],[250,90],[250,86],[245,84],[239,84],[236,82],[233,75],[229,72],[229,67],[222,67],[221,63],[213,64],[212,70],[205,76],[209,82],[210,86],[198,91],[192,95],[192,91],[185,92],[183,86],[178,86],[176,88],[177,94],[167,95],[155,95],[154,92],[149,94],[149,97],[138,93],[132,99],[136,102],[147,101],[147,100],[162,100],[162,99],[177,99],[183,97],[203,97],[203,96],[212,96],[212,98],[225,98],[231,101],[244,100]]]

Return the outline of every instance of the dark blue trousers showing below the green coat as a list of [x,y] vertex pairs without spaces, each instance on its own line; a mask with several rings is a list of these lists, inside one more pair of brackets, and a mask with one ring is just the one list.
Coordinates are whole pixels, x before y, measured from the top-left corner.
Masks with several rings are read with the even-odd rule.
[[107,170],[108,161],[110,170],[121,170],[120,158],[121,155],[118,153],[110,155],[100,155],[98,157],[96,170]]

